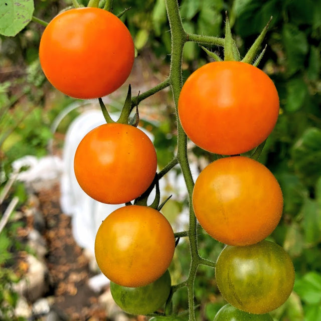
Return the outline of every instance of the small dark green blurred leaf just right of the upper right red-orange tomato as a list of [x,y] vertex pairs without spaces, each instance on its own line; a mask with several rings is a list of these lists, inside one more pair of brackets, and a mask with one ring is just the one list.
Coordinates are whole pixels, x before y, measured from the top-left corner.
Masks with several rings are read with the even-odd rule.
[[292,78],[286,85],[286,103],[285,110],[294,112],[303,107],[307,97],[308,89],[303,78]]

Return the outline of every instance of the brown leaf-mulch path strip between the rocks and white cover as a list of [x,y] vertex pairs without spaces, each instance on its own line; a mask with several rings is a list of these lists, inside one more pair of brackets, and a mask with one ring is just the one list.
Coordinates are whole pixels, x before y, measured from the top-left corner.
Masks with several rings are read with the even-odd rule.
[[79,321],[108,320],[87,281],[92,276],[88,258],[72,235],[71,217],[61,212],[59,185],[38,192],[39,210],[45,219],[44,237],[53,309],[61,318]]

